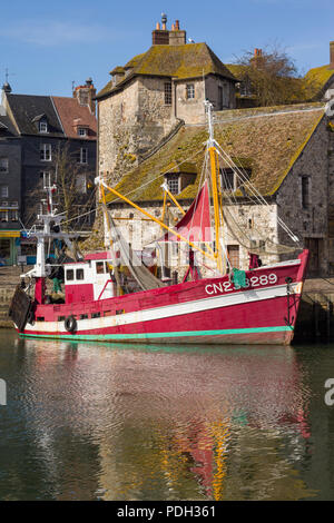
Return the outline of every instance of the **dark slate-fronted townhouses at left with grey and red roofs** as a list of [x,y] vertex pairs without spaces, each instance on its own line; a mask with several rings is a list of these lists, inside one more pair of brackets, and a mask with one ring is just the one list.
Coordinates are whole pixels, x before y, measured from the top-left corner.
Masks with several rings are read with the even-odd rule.
[[[57,180],[57,154],[68,148],[69,179],[76,176],[76,215],[95,205],[94,178],[97,155],[96,90],[91,79],[70,97],[16,95],[7,83],[0,106],[0,230],[12,229],[6,243],[6,264],[35,253],[20,235],[41,213],[45,182]],[[75,175],[73,175],[75,171]],[[90,215],[91,223],[94,215]],[[0,231],[4,235],[4,231]],[[21,236],[21,238],[20,238]],[[9,238],[9,236],[8,236]],[[3,244],[3,241],[2,241]],[[0,240],[0,258],[1,258]],[[3,249],[2,249],[3,250]]]

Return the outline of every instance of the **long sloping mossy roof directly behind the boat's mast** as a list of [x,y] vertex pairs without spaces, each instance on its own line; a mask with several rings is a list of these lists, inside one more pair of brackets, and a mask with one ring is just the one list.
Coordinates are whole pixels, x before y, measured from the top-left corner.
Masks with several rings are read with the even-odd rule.
[[[252,166],[252,184],[263,196],[273,196],[323,116],[322,103],[215,112],[215,138],[230,156],[247,159]],[[177,199],[193,199],[198,189],[206,140],[205,126],[183,127],[160,150],[125,175],[116,189],[129,195],[134,201],[161,200],[160,186],[170,164],[191,161],[198,172],[196,181],[188,185]],[[109,201],[115,199],[108,197]]]

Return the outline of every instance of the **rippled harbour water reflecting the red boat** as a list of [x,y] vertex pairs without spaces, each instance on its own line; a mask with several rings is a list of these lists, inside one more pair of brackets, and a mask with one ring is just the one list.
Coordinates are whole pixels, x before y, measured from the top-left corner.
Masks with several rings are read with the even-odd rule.
[[166,348],[2,329],[0,378],[0,500],[334,499],[334,345]]

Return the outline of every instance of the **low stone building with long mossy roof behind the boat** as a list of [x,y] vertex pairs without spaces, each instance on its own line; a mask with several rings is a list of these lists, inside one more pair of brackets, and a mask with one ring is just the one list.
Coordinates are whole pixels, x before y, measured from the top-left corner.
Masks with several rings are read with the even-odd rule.
[[[263,263],[292,256],[271,254],[276,243],[296,246],[279,227],[283,220],[298,237],[297,246],[311,250],[310,275],[334,274],[334,132],[324,106],[217,112],[215,137],[264,198],[249,204],[238,190],[233,169],[220,161],[223,206],[239,221],[252,247],[268,253],[261,255]],[[161,184],[166,180],[179,205],[187,209],[198,191],[206,139],[205,126],[183,127],[127,174],[117,190],[161,218]],[[161,236],[158,225],[147,221],[129,205],[114,197],[109,201],[118,226],[135,247],[153,245],[151,239]],[[180,217],[180,211],[170,207],[169,224],[173,226]],[[243,245],[230,229],[223,235],[232,264],[247,268],[248,245]],[[169,257],[181,275],[187,265],[183,248],[170,246]]]

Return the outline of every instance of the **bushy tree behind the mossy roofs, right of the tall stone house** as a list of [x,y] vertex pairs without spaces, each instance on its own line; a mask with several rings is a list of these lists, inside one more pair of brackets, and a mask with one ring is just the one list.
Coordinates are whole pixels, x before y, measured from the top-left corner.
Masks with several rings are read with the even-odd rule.
[[242,81],[248,81],[257,106],[298,103],[308,99],[310,82],[278,46],[246,51],[236,59]]

